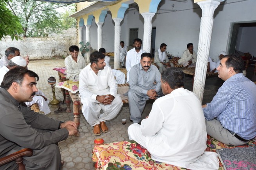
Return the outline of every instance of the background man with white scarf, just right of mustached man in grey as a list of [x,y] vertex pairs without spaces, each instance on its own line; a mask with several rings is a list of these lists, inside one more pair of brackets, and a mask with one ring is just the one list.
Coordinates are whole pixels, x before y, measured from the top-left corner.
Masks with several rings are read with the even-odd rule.
[[154,62],[156,63],[156,65],[158,65],[160,73],[165,69],[165,67],[171,67],[171,64],[172,66],[174,66],[173,63],[169,62],[169,59],[166,53],[166,47],[167,45],[165,43],[162,43],[158,51],[155,52],[155,56],[154,56],[155,58]]

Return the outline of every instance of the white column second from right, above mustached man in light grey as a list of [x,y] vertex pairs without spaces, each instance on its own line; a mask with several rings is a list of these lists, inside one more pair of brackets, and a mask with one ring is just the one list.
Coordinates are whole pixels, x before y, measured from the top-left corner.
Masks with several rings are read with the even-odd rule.
[[152,18],[155,13],[144,12],[141,14],[144,18],[144,33],[143,33],[143,50],[150,53],[151,48],[151,33],[152,33]]

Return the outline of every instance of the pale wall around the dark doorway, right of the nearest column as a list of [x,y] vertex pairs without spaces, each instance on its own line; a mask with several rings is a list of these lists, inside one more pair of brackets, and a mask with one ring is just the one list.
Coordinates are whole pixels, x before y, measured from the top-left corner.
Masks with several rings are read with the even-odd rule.
[[256,0],[239,1],[225,0],[225,4],[219,5],[215,10],[209,54],[214,60],[217,60],[220,51],[228,51],[229,49],[231,23],[244,21],[255,22],[256,20]]

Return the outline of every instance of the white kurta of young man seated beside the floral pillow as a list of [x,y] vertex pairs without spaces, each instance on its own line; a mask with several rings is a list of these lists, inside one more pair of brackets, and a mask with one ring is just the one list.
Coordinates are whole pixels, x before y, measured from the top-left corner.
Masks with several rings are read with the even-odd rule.
[[82,69],[86,67],[86,63],[82,56],[77,56],[77,62],[75,62],[72,56],[69,55],[65,58],[65,66],[67,68],[66,77],[70,80],[79,80],[79,74],[82,71]]

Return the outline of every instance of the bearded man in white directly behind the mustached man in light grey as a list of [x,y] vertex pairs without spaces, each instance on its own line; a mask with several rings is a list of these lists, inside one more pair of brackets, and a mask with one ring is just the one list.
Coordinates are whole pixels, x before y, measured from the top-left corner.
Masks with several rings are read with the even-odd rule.
[[132,66],[140,63],[140,56],[142,53],[145,53],[143,49],[141,49],[142,40],[141,39],[134,39],[133,46],[134,48],[129,50],[126,54],[126,61],[125,61],[125,68],[127,70],[127,80],[126,82],[129,83],[129,72]]

